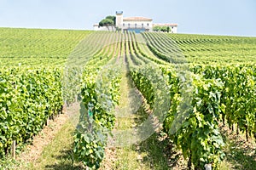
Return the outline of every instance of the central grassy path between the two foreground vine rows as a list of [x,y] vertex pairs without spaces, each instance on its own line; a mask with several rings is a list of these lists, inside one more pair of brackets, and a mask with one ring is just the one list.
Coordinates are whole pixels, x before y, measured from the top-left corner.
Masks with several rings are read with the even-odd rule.
[[[148,119],[149,112],[127,71],[122,77],[120,92],[113,133],[121,138],[117,137],[114,144],[108,145],[100,169],[169,169],[165,138],[161,138],[159,133],[145,140],[137,140],[131,135],[131,129]],[[133,144],[133,140],[136,143]]]

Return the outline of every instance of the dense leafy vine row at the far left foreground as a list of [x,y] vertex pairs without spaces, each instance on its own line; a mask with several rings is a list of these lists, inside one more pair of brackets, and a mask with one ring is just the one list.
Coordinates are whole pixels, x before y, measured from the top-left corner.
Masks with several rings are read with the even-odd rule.
[[13,140],[23,144],[40,132],[49,116],[61,112],[61,71],[49,68],[0,70],[0,157]]

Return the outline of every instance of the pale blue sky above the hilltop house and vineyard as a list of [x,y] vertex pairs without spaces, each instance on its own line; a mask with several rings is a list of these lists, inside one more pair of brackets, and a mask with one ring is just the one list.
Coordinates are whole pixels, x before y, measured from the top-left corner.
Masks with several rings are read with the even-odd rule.
[[92,30],[116,11],[178,33],[256,37],[255,0],[0,0],[0,27]]

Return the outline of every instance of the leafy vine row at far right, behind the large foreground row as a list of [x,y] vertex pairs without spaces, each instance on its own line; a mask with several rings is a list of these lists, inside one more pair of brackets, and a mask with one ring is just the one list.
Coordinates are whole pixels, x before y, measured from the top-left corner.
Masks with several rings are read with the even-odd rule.
[[254,134],[255,131],[255,66],[195,66],[193,71],[207,79],[218,78],[224,82],[221,91],[221,113],[223,121],[231,127],[237,124],[242,132]]

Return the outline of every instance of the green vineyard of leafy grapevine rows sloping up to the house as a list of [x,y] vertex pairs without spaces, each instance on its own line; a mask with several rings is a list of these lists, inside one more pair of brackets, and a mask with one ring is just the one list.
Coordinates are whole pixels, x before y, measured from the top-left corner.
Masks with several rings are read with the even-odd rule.
[[[219,169],[220,127],[255,143],[255,37],[9,28],[0,35],[1,158],[75,104],[73,157],[93,169],[110,146],[154,133],[166,133],[189,169]],[[124,77],[148,115],[120,131],[120,117],[131,116],[119,108]]]

